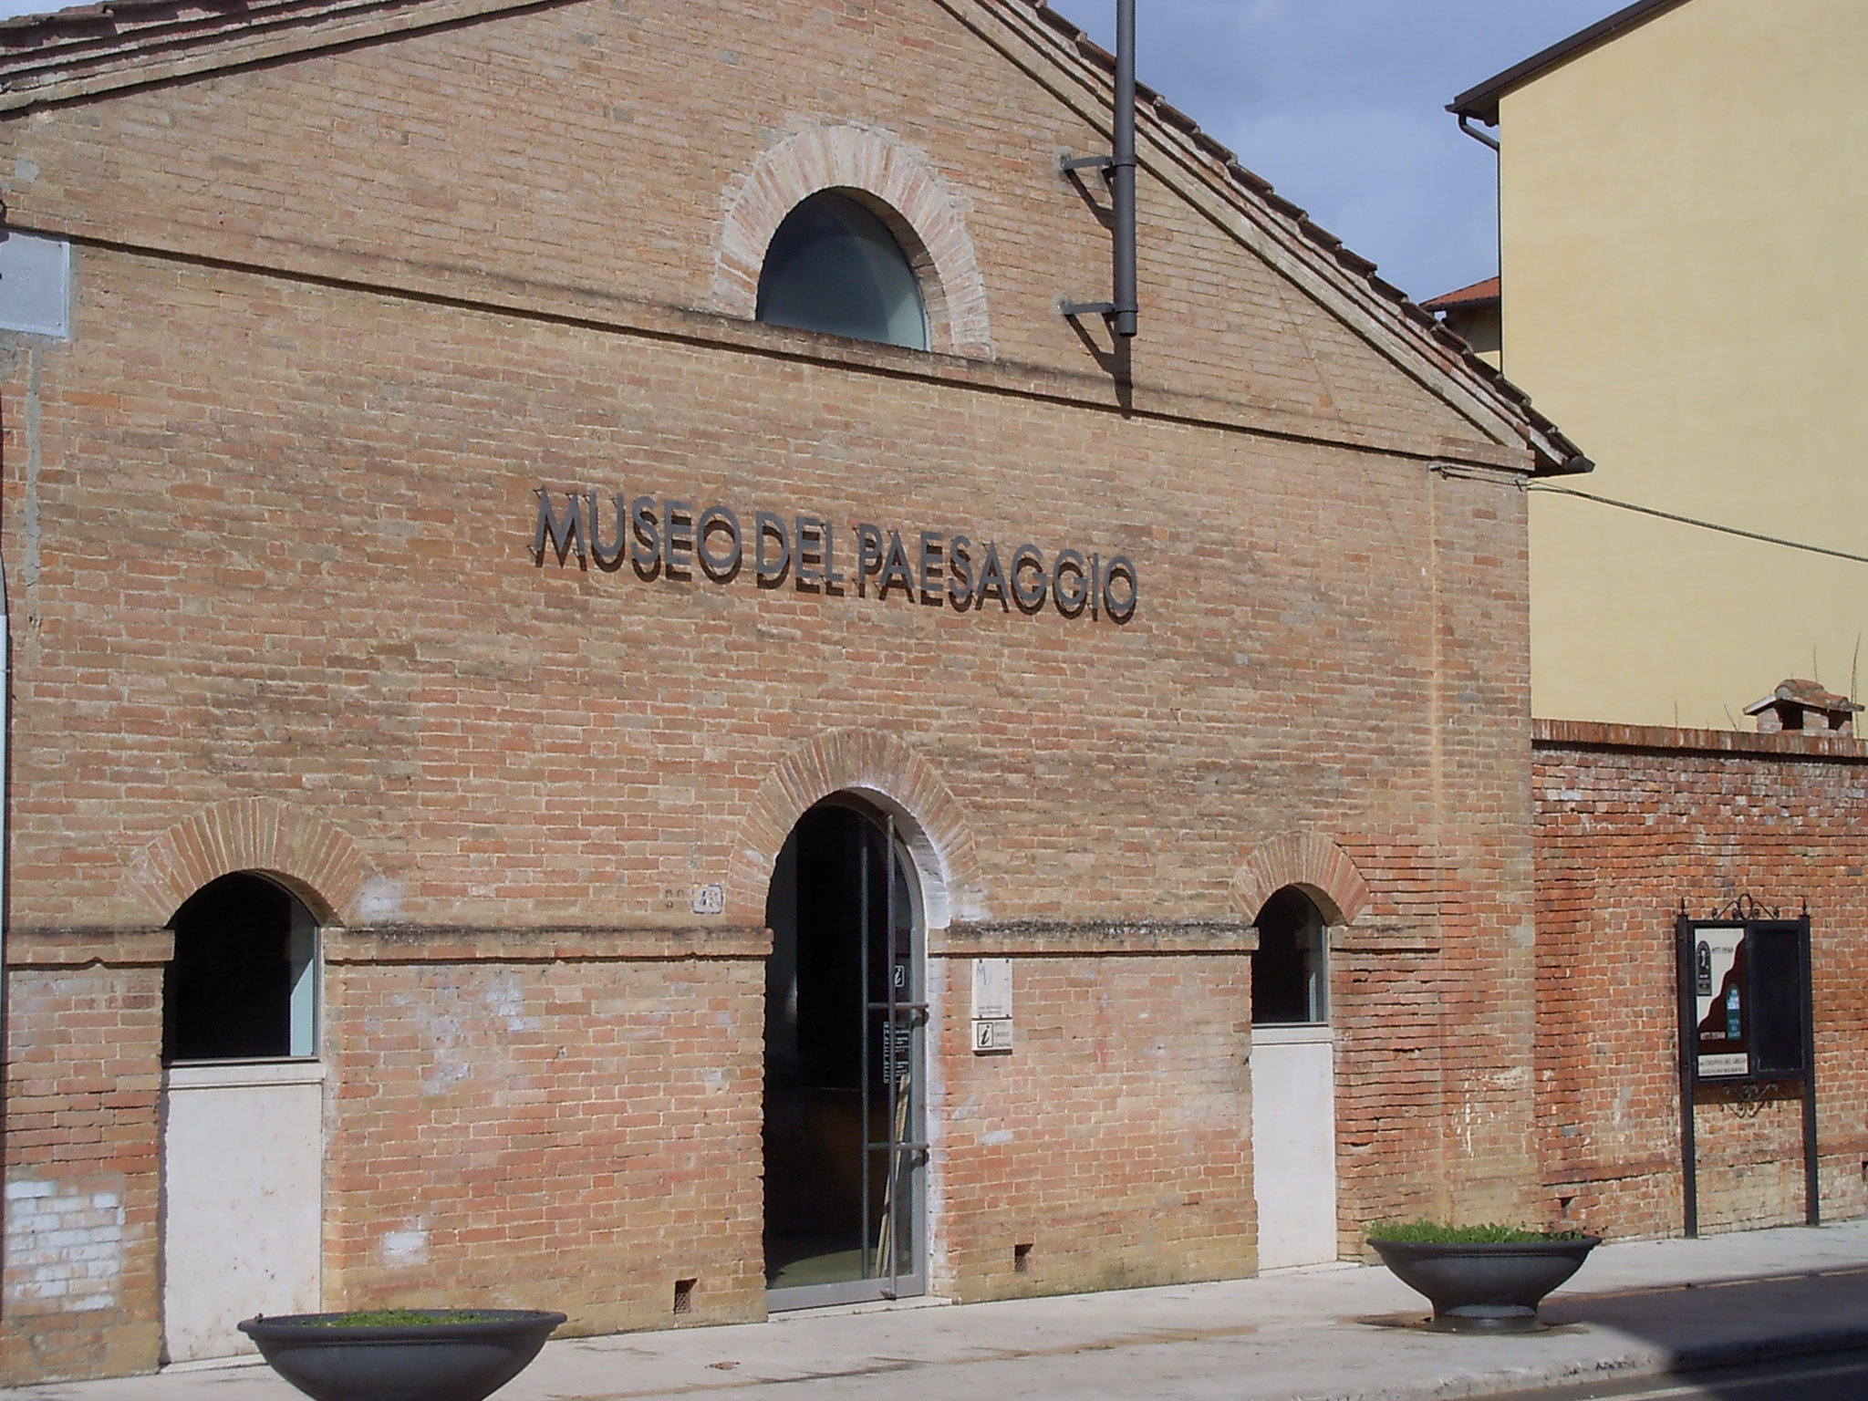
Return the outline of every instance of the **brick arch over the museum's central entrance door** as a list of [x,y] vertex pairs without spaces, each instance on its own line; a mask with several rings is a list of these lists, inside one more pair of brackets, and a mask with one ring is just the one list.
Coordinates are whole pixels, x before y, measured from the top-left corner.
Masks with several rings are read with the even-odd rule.
[[729,869],[730,912],[764,919],[766,887],[786,837],[807,809],[837,792],[867,798],[895,816],[921,876],[928,928],[984,917],[973,833],[940,771],[893,734],[857,729],[807,740],[753,794]]

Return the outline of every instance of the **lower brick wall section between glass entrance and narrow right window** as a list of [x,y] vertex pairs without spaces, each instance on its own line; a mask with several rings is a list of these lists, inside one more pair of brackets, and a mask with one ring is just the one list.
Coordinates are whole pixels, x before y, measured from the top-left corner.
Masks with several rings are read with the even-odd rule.
[[[994,955],[1042,947],[1018,930],[988,938]],[[1095,956],[1083,943],[1014,958],[1009,1055],[973,1055],[971,966],[934,962],[947,975],[940,1293],[1125,1289],[1253,1268],[1248,956]],[[1027,1274],[1014,1274],[1018,1244],[1031,1246]]]

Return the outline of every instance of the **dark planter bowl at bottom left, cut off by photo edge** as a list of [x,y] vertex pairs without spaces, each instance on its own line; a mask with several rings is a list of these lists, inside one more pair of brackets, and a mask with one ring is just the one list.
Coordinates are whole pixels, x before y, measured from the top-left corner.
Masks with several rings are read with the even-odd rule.
[[314,1401],[482,1401],[564,1323],[542,1309],[411,1311],[432,1323],[372,1328],[334,1323],[342,1313],[280,1313],[247,1319],[239,1330]]

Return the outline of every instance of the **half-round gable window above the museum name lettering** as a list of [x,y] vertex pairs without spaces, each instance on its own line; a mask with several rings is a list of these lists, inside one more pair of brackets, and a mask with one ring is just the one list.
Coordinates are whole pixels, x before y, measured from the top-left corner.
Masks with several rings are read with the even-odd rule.
[[908,254],[848,194],[822,191],[792,209],[758,273],[760,321],[908,349],[928,347],[928,318]]

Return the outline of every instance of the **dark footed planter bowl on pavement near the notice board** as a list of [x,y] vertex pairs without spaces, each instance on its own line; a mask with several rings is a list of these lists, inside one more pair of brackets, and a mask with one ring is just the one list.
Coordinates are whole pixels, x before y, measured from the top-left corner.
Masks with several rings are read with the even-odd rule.
[[1431,1328],[1528,1334],[1537,1304],[1582,1268],[1601,1237],[1580,1240],[1369,1240],[1394,1276],[1433,1300]]

